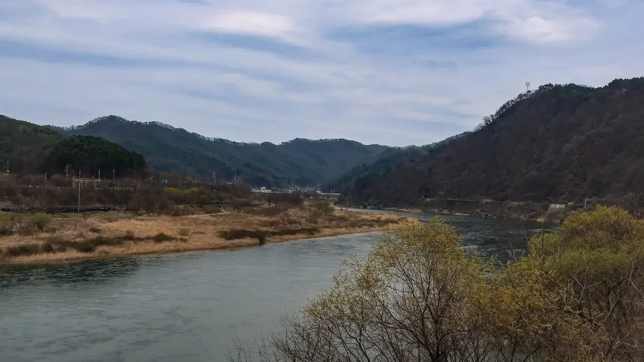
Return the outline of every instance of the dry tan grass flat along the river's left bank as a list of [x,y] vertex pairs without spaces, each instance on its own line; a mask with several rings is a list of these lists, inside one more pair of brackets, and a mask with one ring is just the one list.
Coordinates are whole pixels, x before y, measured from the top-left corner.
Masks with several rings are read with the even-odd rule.
[[[271,216],[262,216],[262,215]],[[185,217],[58,219],[43,232],[0,236],[0,263],[53,263],[134,254],[249,247],[319,236],[387,229],[406,218],[310,207],[278,213],[229,213]],[[186,235],[187,230],[187,235]],[[251,236],[251,237],[249,237]]]

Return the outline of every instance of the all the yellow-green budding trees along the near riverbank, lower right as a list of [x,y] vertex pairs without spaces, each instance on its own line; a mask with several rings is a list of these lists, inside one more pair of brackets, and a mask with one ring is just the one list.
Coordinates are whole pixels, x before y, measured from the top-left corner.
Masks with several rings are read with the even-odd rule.
[[231,361],[644,359],[644,221],[576,211],[506,265],[459,247],[440,218],[397,227],[282,328]]

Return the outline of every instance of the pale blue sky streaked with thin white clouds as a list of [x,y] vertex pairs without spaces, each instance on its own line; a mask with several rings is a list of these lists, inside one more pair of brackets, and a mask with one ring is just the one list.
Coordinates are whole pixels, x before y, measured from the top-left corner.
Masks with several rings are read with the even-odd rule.
[[644,76],[641,0],[0,0],[0,114],[428,144],[545,83]]

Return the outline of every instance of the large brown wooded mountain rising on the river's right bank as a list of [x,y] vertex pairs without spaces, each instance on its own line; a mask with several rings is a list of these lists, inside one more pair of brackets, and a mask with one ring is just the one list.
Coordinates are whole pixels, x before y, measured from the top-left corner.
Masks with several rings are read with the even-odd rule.
[[546,84],[509,100],[472,133],[343,197],[384,206],[422,198],[582,202],[644,189],[644,78],[601,88]]

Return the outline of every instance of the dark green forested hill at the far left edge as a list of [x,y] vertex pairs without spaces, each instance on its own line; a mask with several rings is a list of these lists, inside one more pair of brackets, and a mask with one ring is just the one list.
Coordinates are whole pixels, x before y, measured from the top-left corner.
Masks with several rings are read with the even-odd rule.
[[81,171],[95,175],[99,169],[112,167],[118,176],[140,173],[146,161],[138,153],[99,137],[68,137],[55,129],[15,120],[0,115],[0,160],[5,171],[9,161],[11,173],[50,175]]

